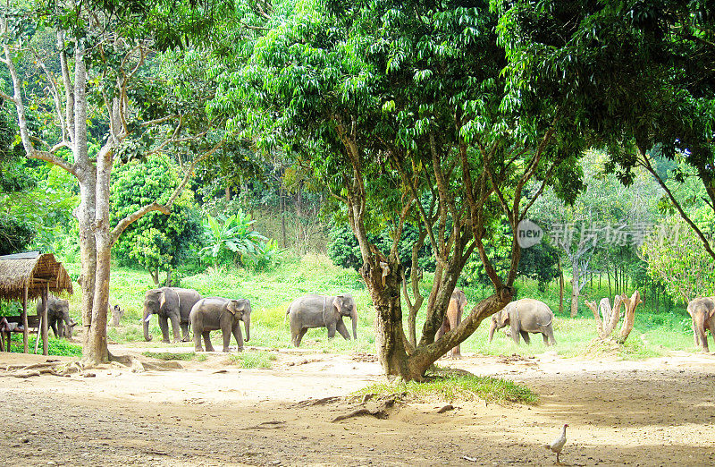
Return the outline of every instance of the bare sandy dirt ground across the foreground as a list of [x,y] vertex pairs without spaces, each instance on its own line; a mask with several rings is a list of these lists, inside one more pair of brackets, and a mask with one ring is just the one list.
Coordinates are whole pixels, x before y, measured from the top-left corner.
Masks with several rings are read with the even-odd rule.
[[638,362],[467,355],[440,364],[513,379],[541,403],[457,401],[444,413],[440,401],[408,403],[386,420],[337,422],[356,403],[303,401],[382,380],[378,363],[307,350],[276,356],[273,369],[237,369],[219,352],[181,362],[183,369],[132,372],[114,363],[91,370],[93,377],[15,378],[7,365],[46,357],[0,353],[4,463],[552,465],[543,444],[568,423],[567,465],[715,464],[715,355]]

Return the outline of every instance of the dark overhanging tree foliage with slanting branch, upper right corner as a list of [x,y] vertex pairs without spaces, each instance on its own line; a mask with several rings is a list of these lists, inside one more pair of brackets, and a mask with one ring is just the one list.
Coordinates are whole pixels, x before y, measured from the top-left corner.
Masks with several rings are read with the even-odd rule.
[[[495,3],[497,4],[497,3]],[[506,72],[525,92],[559,93],[580,115],[582,132],[609,149],[610,170],[631,183],[647,170],[704,249],[711,239],[687,212],[689,196],[659,170],[682,163],[715,209],[715,14],[704,1],[499,3]]]

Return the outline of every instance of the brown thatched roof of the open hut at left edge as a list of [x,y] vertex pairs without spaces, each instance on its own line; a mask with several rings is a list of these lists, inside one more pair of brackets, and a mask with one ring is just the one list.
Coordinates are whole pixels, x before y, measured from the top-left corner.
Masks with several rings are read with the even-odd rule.
[[70,275],[55,255],[29,251],[0,256],[0,300],[21,301],[25,285],[28,299],[39,299],[46,284],[55,295],[72,293]]

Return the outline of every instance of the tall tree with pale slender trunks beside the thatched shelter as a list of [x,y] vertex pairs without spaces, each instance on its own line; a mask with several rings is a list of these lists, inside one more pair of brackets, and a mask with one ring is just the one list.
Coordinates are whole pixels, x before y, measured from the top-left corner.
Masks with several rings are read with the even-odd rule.
[[[107,361],[106,310],[110,253],[122,231],[147,212],[170,212],[198,158],[221,145],[211,138],[202,102],[212,97],[208,77],[172,82],[168,66],[203,70],[199,54],[181,52],[188,38],[210,24],[215,12],[200,2],[37,1],[0,10],[4,56],[12,92],[0,97],[16,109],[25,156],[44,160],[76,177],[80,205],[80,285],[84,359]],[[54,37],[54,47],[37,47]],[[44,42],[43,42],[44,44]],[[166,50],[176,49],[171,59]],[[21,56],[32,56],[47,91],[27,100]],[[181,65],[187,64],[186,68]],[[198,79],[199,78],[199,79]],[[44,108],[49,124],[29,125],[29,107]],[[91,150],[96,140],[98,150]],[[110,223],[110,175],[115,163],[156,151],[193,158],[165,203],[151,202]],[[181,156],[180,156],[181,157]]]

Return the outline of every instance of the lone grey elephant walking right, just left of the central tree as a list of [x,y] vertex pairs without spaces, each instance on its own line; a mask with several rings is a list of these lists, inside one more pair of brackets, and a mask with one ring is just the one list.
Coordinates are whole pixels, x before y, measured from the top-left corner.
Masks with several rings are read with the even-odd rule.
[[342,322],[344,316],[352,319],[352,335],[357,339],[357,305],[349,293],[304,295],[290,303],[285,314],[290,318],[290,341],[296,347],[311,327],[327,327],[329,339],[335,337],[337,330],[348,341],[350,334]]

